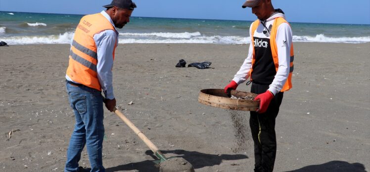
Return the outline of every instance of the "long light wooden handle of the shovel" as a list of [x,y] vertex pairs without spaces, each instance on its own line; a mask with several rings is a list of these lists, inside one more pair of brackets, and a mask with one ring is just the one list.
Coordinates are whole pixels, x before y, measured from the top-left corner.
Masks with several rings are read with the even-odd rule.
[[139,137],[140,139],[146,144],[146,146],[149,147],[149,149],[151,151],[153,151],[154,153],[156,153],[158,151],[158,148],[157,146],[155,146],[149,139],[148,137],[146,137],[144,135],[144,133],[142,133],[137,127],[135,127],[135,125],[128,119],[125,117],[125,115],[123,115],[117,108],[114,108],[114,113],[120,117],[122,119],[123,122],[126,123],[127,126],[130,127],[130,129],[132,129]]

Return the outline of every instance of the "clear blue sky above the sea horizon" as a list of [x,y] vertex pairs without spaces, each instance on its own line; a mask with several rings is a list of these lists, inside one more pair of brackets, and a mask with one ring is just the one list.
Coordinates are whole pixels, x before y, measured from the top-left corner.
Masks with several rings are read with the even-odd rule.
[[[245,0],[133,0],[133,16],[253,21]],[[0,11],[62,14],[100,12],[111,0],[0,0]],[[370,0],[272,0],[289,22],[370,24]],[[1,21],[0,21],[1,22]]]

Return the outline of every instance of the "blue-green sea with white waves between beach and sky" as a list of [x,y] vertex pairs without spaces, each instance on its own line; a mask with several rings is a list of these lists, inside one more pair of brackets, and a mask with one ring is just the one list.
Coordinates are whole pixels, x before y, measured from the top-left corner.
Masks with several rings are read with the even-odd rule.
[[[70,43],[83,15],[0,11],[0,41]],[[250,43],[252,21],[131,17],[119,43]],[[370,25],[291,22],[293,42],[368,43]]]

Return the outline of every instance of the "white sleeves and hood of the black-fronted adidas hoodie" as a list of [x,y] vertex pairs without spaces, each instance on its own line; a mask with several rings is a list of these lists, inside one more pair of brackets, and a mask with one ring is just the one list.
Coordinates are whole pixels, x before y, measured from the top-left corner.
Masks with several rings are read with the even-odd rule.
[[[263,25],[263,22],[260,22],[260,25],[258,26],[254,33],[251,33],[252,27],[250,27],[249,29],[250,37],[270,40],[270,34],[266,34],[266,30],[269,29],[269,26],[272,26],[274,24],[275,18],[277,17],[285,18],[285,15],[282,13],[273,14],[270,18],[266,20],[266,23],[264,23],[267,28]],[[264,30],[265,33],[263,32]],[[270,84],[268,89],[274,95],[282,89],[282,86],[285,84],[289,75],[290,46],[292,43],[292,31],[289,24],[282,23],[278,26],[276,34],[276,43],[277,43],[278,69],[275,78],[273,82]],[[254,48],[253,44],[250,43],[247,58],[244,60],[239,71],[235,74],[234,78],[232,79],[238,85],[245,82],[250,77],[249,71],[252,67],[253,48]]]

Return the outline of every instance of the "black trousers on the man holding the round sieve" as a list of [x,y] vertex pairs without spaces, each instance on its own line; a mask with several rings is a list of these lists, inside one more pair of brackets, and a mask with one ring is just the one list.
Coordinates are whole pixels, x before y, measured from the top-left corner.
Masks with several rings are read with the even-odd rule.
[[[261,94],[269,85],[252,83],[251,92]],[[249,126],[254,142],[255,172],[272,172],[276,157],[275,119],[279,112],[283,92],[277,93],[271,100],[265,113],[250,112]]]

